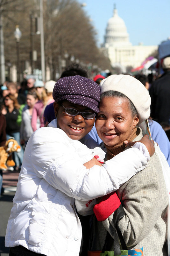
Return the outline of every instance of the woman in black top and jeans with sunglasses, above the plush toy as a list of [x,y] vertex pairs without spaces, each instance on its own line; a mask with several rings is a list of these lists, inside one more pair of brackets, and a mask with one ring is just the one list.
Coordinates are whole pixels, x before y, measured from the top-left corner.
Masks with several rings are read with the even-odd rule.
[[[7,140],[12,136],[20,144],[20,126],[17,123],[18,113],[20,105],[14,95],[8,94],[4,98],[5,109],[2,110],[2,114],[6,119],[6,138]],[[21,147],[20,152],[14,152],[14,162],[16,164],[15,170],[18,171],[21,168],[23,161],[24,150]]]

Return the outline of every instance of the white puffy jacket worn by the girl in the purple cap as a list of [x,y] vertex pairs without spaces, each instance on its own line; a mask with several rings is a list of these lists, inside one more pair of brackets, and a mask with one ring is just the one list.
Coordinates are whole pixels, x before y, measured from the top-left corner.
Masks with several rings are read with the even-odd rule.
[[[30,137],[19,174],[5,246],[22,245],[48,256],[78,256],[81,223],[74,198],[90,200],[119,188],[147,166],[131,148],[102,167],[83,163],[94,152],[58,128],[42,127]],[[126,172],[124,171],[126,170]]]

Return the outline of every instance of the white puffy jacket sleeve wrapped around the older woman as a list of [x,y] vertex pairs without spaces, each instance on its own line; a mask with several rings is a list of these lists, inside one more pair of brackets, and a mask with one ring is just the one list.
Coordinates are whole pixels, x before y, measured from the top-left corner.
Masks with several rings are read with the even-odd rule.
[[93,154],[87,154],[90,149],[79,141],[72,140],[71,144],[71,139],[65,136],[57,128],[43,127],[37,130],[27,144],[25,154],[29,157],[24,159],[27,161],[25,168],[32,168],[39,178],[76,199],[91,200],[117,190],[147,166],[146,157],[137,148],[131,148],[106,161],[102,167],[95,165],[87,170],[78,152],[83,147],[89,161],[93,157]]

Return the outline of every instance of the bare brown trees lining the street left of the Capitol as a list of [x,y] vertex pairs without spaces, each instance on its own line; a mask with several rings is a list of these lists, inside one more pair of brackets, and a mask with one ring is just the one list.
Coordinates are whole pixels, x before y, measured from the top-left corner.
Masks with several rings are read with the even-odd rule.
[[[23,64],[30,60],[33,48],[37,51],[34,68],[40,69],[40,35],[35,33],[35,20],[36,16],[39,16],[38,0],[1,2],[6,62],[16,63],[16,42],[13,33],[15,26],[19,25],[22,31],[19,44],[20,60]],[[110,68],[109,59],[96,46],[96,31],[89,17],[76,0],[44,0],[43,11],[45,60],[46,66],[50,67],[52,79],[55,79],[56,72],[62,71],[62,60],[69,62],[73,56],[74,60],[84,65],[97,65],[101,69]]]

